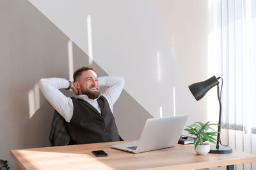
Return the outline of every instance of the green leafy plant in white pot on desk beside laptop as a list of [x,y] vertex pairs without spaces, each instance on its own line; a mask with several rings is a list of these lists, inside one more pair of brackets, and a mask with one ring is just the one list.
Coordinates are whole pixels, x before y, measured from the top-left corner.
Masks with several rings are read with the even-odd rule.
[[[195,152],[198,155],[206,155],[210,151],[209,143],[215,143],[218,132],[214,131],[210,126],[218,124],[206,124],[202,122],[195,122],[194,124],[188,125],[185,131],[188,131],[191,136],[189,138],[194,139]],[[208,141],[209,143],[206,143]]]

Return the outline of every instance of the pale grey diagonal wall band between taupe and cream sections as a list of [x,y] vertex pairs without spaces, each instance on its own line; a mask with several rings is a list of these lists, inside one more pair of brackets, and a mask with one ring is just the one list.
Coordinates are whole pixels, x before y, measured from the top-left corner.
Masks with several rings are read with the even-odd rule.
[[191,115],[189,122],[200,119],[155,1],[30,2],[106,73],[124,76],[125,90],[153,117],[176,108],[177,115]]

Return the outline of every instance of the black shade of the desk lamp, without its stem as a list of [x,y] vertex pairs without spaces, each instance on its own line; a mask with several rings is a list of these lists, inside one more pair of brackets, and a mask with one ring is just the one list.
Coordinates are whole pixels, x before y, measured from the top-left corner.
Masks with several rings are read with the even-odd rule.
[[195,97],[196,101],[199,101],[202,99],[205,94],[210,90],[212,87],[219,84],[218,79],[216,76],[212,76],[211,78],[201,81],[198,83],[193,83],[192,85],[189,85],[189,90]]

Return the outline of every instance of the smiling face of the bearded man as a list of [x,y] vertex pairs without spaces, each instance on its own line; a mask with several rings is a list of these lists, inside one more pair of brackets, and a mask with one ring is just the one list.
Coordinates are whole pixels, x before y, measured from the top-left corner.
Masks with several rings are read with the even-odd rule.
[[100,96],[100,87],[97,74],[92,71],[83,71],[79,77],[81,94],[86,94],[90,99],[97,99]]

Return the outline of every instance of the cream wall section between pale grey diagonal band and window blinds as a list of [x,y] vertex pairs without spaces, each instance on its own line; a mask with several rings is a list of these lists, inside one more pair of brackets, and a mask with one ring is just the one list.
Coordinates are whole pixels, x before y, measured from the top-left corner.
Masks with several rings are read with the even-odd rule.
[[[209,78],[208,41],[212,30],[209,3],[205,0],[156,0],[168,39],[188,85]],[[196,105],[200,117],[206,121],[207,97],[196,102]]]

